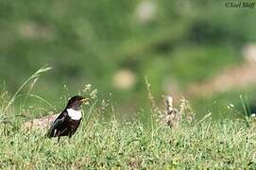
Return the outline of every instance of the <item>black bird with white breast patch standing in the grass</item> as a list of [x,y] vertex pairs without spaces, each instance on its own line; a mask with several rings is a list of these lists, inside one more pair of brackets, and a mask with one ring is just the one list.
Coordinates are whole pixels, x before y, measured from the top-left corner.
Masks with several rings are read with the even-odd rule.
[[77,131],[82,119],[80,106],[88,100],[88,98],[79,95],[69,99],[66,108],[48,129],[47,137],[58,137],[58,142],[60,142],[60,136],[69,136],[71,138]]

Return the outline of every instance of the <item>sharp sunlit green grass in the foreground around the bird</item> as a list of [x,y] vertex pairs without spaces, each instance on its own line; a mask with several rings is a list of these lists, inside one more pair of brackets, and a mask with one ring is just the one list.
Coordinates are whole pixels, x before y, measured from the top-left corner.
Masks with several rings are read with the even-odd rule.
[[[45,69],[40,70],[48,70]],[[24,119],[13,110],[17,96],[23,96],[22,89],[38,76],[31,77],[13,97],[1,92],[1,169],[256,168],[256,120],[211,121],[212,115],[207,114],[201,120],[186,121],[183,117],[191,117],[192,110],[184,100],[179,126],[167,127],[159,121],[162,112],[154,103],[147,81],[151,102],[148,122],[119,121],[110,103],[97,104],[99,98],[93,90],[90,96],[94,102],[84,108],[84,119],[76,135],[71,140],[63,137],[58,144],[57,139],[44,138],[47,129],[24,129]],[[88,93],[88,87],[84,92]],[[31,95],[30,90],[27,95]],[[104,118],[107,111],[112,114],[110,121]]]

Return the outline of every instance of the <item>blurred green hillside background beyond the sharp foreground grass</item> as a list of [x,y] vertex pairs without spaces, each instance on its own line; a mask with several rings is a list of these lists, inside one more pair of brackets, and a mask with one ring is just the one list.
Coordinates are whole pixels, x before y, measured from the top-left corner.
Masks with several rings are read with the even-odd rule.
[[162,95],[174,95],[176,105],[184,95],[198,115],[212,110],[219,117],[229,114],[227,105],[240,110],[243,94],[253,108],[250,81],[213,93],[207,92],[214,85],[200,89],[227,68],[232,75],[232,68],[248,62],[245,50],[255,47],[255,8],[226,8],[225,3],[1,0],[2,91],[14,93],[47,64],[53,70],[40,77],[33,92],[52,103],[60,100],[64,85],[73,95],[90,83],[122,114],[136,112],[150,103],[146,76],[160,106]]

